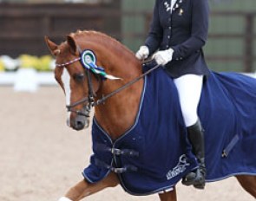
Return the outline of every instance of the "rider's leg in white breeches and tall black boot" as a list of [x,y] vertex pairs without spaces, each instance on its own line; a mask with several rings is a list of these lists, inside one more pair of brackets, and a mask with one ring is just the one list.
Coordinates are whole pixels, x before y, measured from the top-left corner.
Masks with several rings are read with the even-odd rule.
[[195,172],[188,173],[182,183],[184,185],[194,185],[194,187],[200,189],[205,186],[206,176],[204,133],[197,114],[202,83],[203,75],[183,75],[174,79],[180,98],[181,112],[187,126],[188,139],[200,164],[200,168]]

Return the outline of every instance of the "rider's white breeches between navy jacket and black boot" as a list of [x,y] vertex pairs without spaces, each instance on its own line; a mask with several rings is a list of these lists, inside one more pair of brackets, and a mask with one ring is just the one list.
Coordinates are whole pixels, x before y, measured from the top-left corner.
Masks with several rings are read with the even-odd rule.
[[203,75],[182,75],[174,79],[181,103],[181,113],[186,126],[198,120],[197,107],[200,101]]

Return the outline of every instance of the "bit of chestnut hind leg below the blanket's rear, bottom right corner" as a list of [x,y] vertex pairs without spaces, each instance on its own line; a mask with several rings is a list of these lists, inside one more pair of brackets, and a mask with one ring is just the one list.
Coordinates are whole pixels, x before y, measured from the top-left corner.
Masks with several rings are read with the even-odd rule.
[[256,176],[239,175],[236,178],[239,180],[240,185],[256,198]]

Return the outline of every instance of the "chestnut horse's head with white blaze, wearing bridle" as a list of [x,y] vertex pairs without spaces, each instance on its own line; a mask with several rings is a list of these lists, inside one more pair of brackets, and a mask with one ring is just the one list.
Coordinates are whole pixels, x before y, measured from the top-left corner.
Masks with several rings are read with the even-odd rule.
[[[82,65],[82,50],[74,34],[67,36],[67,41],[60,45],[48,37],[45,41],[51,54],[56,56],[55,78],[66,96],[67,124],[75,130],[82,130],[89,126],[89,112],[101,79]],[[88,46],[87,49],[94,47]],[[92,59],[91,55],[84,56],[84,59]]]

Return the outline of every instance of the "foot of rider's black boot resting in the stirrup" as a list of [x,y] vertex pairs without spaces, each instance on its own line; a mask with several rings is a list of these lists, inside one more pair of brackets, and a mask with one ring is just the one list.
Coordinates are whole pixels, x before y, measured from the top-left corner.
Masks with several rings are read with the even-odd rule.
[[205,174],[198,168],[194,172],[189,172],[186,177],[182,178],[181,183],[187,186],[194,185],[197,189],[204,189],[206,185]]

